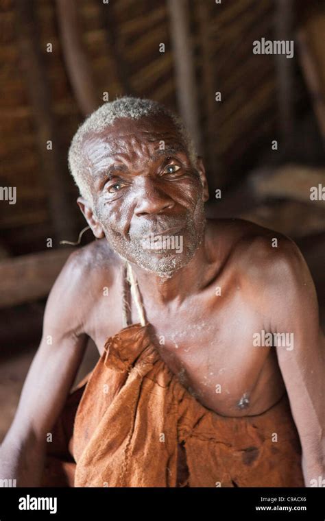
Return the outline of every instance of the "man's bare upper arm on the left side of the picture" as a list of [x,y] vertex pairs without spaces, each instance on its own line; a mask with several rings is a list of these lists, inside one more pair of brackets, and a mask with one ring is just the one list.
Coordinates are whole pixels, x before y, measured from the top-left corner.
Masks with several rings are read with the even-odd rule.
[[8,437],[45,441],[64,405],[86,348],[82,333],[84,284],[75,253],[69,256],[47,300],[43,335],[25,380]]

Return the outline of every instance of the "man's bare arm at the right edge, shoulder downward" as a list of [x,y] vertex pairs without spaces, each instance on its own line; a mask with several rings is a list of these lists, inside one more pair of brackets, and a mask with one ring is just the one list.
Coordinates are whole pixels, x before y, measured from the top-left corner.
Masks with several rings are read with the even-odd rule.
[[[298,247],[285,243],[276,261],[270,293],[271,329],[285,333],[289,343],[276,347],[293,419],[309,469],[324,472],[324,335],[320,329],[317,296],[311,274]],[[276,302],[276,305],[274,305]],[[306,478],[305,475],[305,478]],[[317,478],[317,476],[315,476]],[[309,483],[306,483],[307,485]]]

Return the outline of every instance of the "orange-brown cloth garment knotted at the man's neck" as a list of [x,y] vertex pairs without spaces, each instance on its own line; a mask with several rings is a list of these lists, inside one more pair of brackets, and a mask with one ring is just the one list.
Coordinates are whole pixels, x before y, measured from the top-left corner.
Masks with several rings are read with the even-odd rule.
[[108,338],[69,395],[43,486],[303,487],[300,461],[287,394],[261,415],[206,409],[161,359],[141,317]]

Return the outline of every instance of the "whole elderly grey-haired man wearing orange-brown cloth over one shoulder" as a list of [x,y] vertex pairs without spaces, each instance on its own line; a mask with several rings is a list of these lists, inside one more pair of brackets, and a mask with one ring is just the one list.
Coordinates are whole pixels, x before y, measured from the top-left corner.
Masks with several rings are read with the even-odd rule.
[[[0,477],[321,483],[324,337],[296,245],[205,218],[202,160],[154,101],[101,106],[75,134],[69,165],[97,240],[71,254],[51,290]],[[88,337],[101,356],[69,393]]]

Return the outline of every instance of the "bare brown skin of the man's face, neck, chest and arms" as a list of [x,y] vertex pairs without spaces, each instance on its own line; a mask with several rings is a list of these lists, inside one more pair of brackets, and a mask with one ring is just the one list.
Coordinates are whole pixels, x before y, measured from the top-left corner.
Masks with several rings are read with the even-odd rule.
[[[86,136],[82,160],[93,200],[79,197],[77,203],[98,240],[71,254],[51,290],[42,341],[1,446],[0,478],[38,485],[46,433],[88,339],[101,354],[106,339],[122,328],[126,258],[152,341],[204,407],[230,417],[257,415],[288,393],[311,486],[325,474],[324,336],[298,247],[247,221],[205,219],[202,160],[191,165],[166,117],[115,121]],[[150,232],[182,237],[182,251],[143,248]],[[131,316],[139,322],[134,302]],[[254,346],[253,335],[261,330],[292,334],[294,348]]]

